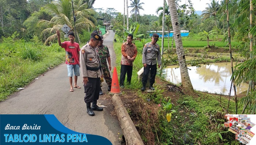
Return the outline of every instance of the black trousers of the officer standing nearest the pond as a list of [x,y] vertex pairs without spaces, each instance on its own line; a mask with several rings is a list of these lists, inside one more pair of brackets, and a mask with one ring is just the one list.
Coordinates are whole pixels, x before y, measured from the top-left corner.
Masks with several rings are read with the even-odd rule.
[[143,77],[142,77],[142,83],[146,84],[147,83],[147,78],[148,78],[148,74],[150,71],[150,86],[153,86],[153,84],[155,83],[155,75],[157,74],[157,64],[155,65],[148,65],[146,67],[144,67],[144,71],[143,71]]

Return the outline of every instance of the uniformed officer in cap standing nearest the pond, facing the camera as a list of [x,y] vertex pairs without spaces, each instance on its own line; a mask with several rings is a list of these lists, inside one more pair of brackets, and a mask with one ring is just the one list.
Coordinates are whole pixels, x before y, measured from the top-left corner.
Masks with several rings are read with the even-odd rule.
[[146,84],[147,84],[147,78],[149,71],[151,73],[150,75],[150,90],[155,90],[153,87],[153,84],[155,83],[155,75],[157,74],[157,63],[158,68],[161,66],[161,54],[160,54],[160,47],[157,44],[159,35],[153,34],[151,38],[151,42],[145,44],[143,48],[143,54],[142,54],[142,63],[144,66],[143,71],[143,78],[142,78],[142,91],[146,90]]

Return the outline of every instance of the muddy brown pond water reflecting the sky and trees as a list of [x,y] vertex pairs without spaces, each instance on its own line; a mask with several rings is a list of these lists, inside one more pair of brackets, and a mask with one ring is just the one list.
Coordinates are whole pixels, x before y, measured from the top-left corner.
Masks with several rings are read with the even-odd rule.
[[[207,91],[209,93],[218,93],[228,95],[231,85],[231,67],[230,62],[202,64],[201,67],[188,67],[191,83],[195,90]],[[235,65],[235,64],[234,64]],[[174,84],[181,83],[180,68],[177,66],[168,66],[166,70],[166,80]],[[237,94],[246,91],[248,84],[236,86]],[[232,87],[231,95],[234,95]]]

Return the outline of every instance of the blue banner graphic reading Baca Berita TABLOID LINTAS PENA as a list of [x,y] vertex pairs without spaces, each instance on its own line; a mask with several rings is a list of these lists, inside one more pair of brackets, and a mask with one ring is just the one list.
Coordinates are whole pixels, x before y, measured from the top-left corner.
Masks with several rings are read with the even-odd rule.
[[0,115],[0,145],[112,145],[102,136],[75,132],[52,114]]

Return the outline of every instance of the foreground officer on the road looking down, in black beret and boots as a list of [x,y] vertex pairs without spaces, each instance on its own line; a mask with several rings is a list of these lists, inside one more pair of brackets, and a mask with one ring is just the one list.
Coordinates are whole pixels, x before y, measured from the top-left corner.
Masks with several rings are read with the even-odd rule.
[[[86,103],[87,113],[94,116],[93,110],[102,111],[103,108],[97,105],[99,99],[100,77],[103,77],[101,61],[97,50],[97,45],[101,36],[91,33],[89,43],[85,44],[80,51],[80,68],[84,83],[84,102]],[[91,103],[92,106],[91,106]]]

